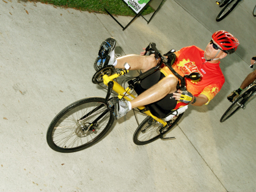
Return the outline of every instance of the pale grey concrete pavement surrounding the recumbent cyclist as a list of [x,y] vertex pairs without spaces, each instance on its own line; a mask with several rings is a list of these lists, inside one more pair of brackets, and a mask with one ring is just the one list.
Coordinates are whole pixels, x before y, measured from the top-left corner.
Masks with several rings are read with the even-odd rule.
[[[214,1],[168,0],[151,23],[138,18],[125,31],[108,15],[60,9],[42,3],[0,2],[0,189],[3,191],[255,191],[255,99],[220,123],[226,95],[252,70],[256,18],[253,0],[221,22]],[[125,25],[131,18],[118,16]],[[104,97],[92,84],[100,43],[117,39],[122,56],[149,42],[159,50],[188,45],[204,49],[211,35],[226,30],[240,41],[221,61],[226,82],[207,106],[189,107],[176,140],[137,146],[132,112],[109,135],[84,151],[52,151],[46,131],[65,106]]]

